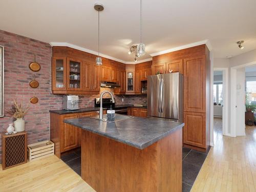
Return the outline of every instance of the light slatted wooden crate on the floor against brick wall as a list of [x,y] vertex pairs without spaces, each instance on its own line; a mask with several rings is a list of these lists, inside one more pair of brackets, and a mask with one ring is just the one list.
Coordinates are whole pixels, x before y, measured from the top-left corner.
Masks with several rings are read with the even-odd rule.
[[54,155],[54,143],[52,141],[41,141],[28,145],[28,159],[34,161]]

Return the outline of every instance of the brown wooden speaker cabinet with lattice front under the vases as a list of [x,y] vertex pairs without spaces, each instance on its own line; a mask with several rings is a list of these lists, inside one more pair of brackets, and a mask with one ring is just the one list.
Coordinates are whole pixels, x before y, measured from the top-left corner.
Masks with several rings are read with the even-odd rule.
[[27,163],[27,133],[5,135],[2,133],[2,167],[3,170]]

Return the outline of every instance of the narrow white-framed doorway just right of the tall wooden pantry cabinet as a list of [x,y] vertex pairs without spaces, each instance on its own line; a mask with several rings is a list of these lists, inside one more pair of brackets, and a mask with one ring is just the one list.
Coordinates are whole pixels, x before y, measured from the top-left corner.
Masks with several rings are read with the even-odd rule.
[[214,141],[228,135],[228,68],[214,68]]

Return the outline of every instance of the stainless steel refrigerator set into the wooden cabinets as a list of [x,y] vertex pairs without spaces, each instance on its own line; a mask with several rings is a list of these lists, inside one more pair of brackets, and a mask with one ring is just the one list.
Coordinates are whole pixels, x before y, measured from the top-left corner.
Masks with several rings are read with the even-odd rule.
[[179,72],[147,77],[147,115],[183,122],[183,76]]

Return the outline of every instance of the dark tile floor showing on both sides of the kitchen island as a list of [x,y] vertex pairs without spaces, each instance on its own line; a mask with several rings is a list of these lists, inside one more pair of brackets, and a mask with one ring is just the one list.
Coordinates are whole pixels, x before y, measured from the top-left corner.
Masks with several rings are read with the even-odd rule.
[[[195,182],[207,154],[182,149],[182,191],[190,191]],[[61,160],[67,163],[79,176],[81,176],[81,148],[66,152],[61,155]]]

